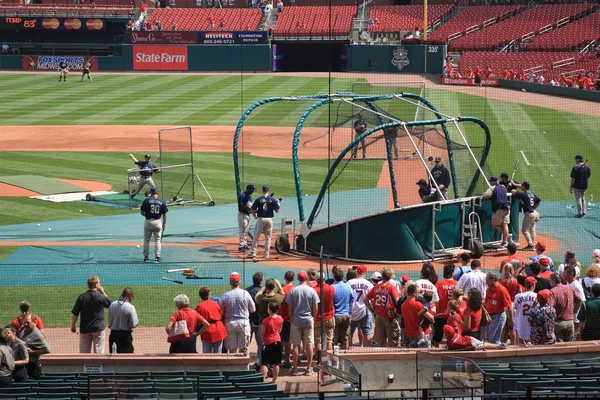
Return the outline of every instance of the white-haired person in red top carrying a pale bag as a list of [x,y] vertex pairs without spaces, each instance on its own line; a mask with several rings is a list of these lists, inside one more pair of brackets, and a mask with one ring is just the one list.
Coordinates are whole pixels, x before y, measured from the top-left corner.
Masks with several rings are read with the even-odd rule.
[[197,353],[196,336],[206,331],[209,323],[190,308],[190,298],[185,294],[175,296],[173,301],[177,311],[173,313],[166,327],[169,335],[167,341],[171,343],[169,353]]

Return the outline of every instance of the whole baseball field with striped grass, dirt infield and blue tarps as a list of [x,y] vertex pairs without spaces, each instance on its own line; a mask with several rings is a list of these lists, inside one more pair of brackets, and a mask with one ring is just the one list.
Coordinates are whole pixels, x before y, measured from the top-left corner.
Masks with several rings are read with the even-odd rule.
[[[67,83],[58,83],[55,74],[0,74],[0,182],[5,182],[3,177],[33,175],[101,182],[121,191],[126,188],[126,170],[132,167],[127,156],[130,152],[137,154],[138,158],[146,152],[156,154],[157,131],[160,128],[189,125],[194,130],[196,171],[217,207],[192,207],[181,211],[182,215],[186,213],[185,218],[188,219],[198,218],[193,221],[197,226],[208,221],[207,224],[226,226],[227,230],[226,233],[215,234],[208,232],[206,227],[198,228],[188,244],[202,249],[208,240],[235,236],[231,146],[235,125],[250,104],[270,96],[348,92],[356,82],[374,86],[393,84],[395,88],[402,88],[403,81],[424,79],[425,97],[438,110],[450,116],[478,117],[490,127],[492,146],[487,163],[491,172],[496,175],[502,171],[511,173],[515,161],[520,161],[515,180],[531,181],[532,191],[543,200],[538,231],[558,243],[552,256],[560,260],[562,251],[568,246],[581,254],[582,263],[590,261],[591,249],[597,247],[595,226],[600,210],[592,209],[584,221],[572,218],[575,211],[569,208],[570,204],[574,204],[569,193],[569,173],[575,154],[581,153],[589,158],[592,181],[588,199],[595,195],[598,185],[594,175],[600,167],[600,144],[597,140],[600,110],[597,104],[498,88],[447,88],[433,82],[431,77],[337,74],[328,79],[326,75],[313,75],[99,74],[94,76],[92,83],[80,83],[79,76],[70,76]],[[381,88],[378,90],[381,91]],[[407,87],[407,90],[412,89]],[[261,182],[255,182],[257,186],[268,183],[278,196],[284,198],[293,196],[295,190],[293,182],[283,178],[292,174],[289,162],[291,140],[278,136],[279,127],[295,126],[297,119],[290,116],[300,115],[306,107],[306,103],[291,102],[277,109],[261,109],[248,123],[248,129],[264,133],[261,139],[253,140],[242,148],[244,162],[256,169],[248,173],[262,177]],[[333,106],[321,107],[305,126],[315,132],[319,129],[326,132],[336,116]],[[302,175],[303,192],[311,195],[319,191],[324,178],[321,172],[331,162],[327,151],[319,152],[321,147],[327,147],[327,137],[321,137],[314,145],[312,156],[302,160],[303,166],[313,167],[306,168],[307,173]],[[356,187],[376,188],[382,164],[381,160],[350,163],[345,173],[351,174]],[[138,211],[86,202],[53,203],[10,195],[14,188],[14,185],[0,183],[0,260],[4,260],[0,263],[0,285],[4,286],[0,290],[0,304],[3,305],[0,321],[7,322],[14,317],[18,303],[29,298],[34,304],[34,311],[44,316],[48,326],[68,326],[72,301],[83,290],[85,280],[71,283],[57,272],[40,281],[36,274],[43,269],[44,262],[54,259],[44,259],[39,248],[59,246],[55,243],[59,240],[39,232],[30,233],[28,229],[51,221],[57,227],[64,225],[66,230],[72,230],[74,226],[84,227],[74,233],[83,242],[93,241],[86,239],[86,235],[94,236],[98,230],[108,230],[109,238],[103,237],[102,240],[120,242],[122,238],[117,236],[125,235],[126,246],[131,247],[136,245],[136,241],[138,244],[141,242],[142,223]],[[414,186],[403,190],[411,194],[416,192]],[[178,212],[175,210],[173,214],[178,215]],[[77,225],[73,225],[75,223]],[[235,247],[235,243],[231,242],[218,244],[229,246],[229,250],[232,245]],[[19,255],[25,250],[36,254],[27,266],[23,261],[28,259],[27,256]],[[191,253],[181,254],[177,261],[185,262]],[[139,250],[132,257],[138,259]],[[94,260],[93,257],[90,259]],[[74,255],[71,260],[81,260],[81,255]],[[239,257],[224,252],[221,259],[209,261],[227,260],[237,262]],[[57,264],[61,262],[64,263],[65,259],[58,259]],[[15,270],[13,267],[17,263],[24,263],[24,266]],[[117,264],[116,261],[114,263]],[[235,264],[232,265],[231,268],[235,268]],[[279,266],[293,268],[296,264],[281,260]],[[135,268],[133,270],[137,272],[130,272],[129,266],[126,270],[113,271],[114,276],[105,279],[110,292],[116,295],[123,285],[132,284],[127,281],[132,274],[144,273],[144,269]],[[261,263],[253,268],[266,267]],[[246,270],[246,278],[251,276],[252,271],[252,268]],[[85,270],[87,272],[93,271]],[[102,270],[96,272],[103,273]],[[22,283],[4,279],[6,274],[15,273],[24,274]],[[63,271],[64,275],[69,273]],[[160,275],[156,276],[160,279]],[[145,290],[143,293],[140,291],[139,298],[136,295],[138,312],[141,308],[146,326],[164,325],[172,310],[172,295],[182,290],[180,286],[153,282],[140,282]],[[190,297],[196,297],[197,288],[193,290],[188,293]]]

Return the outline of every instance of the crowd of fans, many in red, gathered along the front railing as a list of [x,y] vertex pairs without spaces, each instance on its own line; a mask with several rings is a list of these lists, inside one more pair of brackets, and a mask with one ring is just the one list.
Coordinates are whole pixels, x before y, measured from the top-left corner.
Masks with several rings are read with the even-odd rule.
[[[407,275],[395,280],[389,267],[367,279],[364,265],[334,266],[331,279],[314,269],[297,277],[287,271],[283,284],[269,278],[263,285],[263,274],[257,272],[243,289],[234,272],[221,298],[211,298],[205,286],[195,309],[184,294],[173,299],[176,311],[165,327],[169,352],[197,353],[200,337],[202,353],[245,353],[254,337],[254,367],[276,382],[280,366],[298,375],[305,359],[304,374],[310,376],[322,349],[337,352],[351,345],[476,350],[486,342],[502,348],[600,339],[600,250],[593,251],[593,263],[585,269],[571,251],[556,265],[544,243],[536,243],[534,250],[535,255],[522,259],[517,246],[509,244],[500,274],[484,273],[480,260],[464,252],[458,265],[443,265],[442,279],[430,262],[422,265],[417,280]],[[72,310],[73,332],[80,322],[81,353],[105,352],[106,308],[111,352],[134,352],[138,318],[133,298],[133,290],[125,288],[110,301],[98,277],[88,280],[88,290]],[[39,377],[40,356],[50,352],[42,319],[28,301],[20,309],[1,331],[0,385]]]

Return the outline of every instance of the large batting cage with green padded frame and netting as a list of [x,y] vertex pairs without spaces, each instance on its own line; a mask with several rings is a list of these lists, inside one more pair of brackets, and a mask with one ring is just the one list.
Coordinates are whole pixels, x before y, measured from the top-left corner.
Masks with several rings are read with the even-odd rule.
[[[481,200],[491,175],[487,125],[438,111],[423,84],[352,88],[356,92],[269,97],[248,107],[233,142],[237,194],[254,184],[283,197],[285,219],[297,220],[293,238],[285,240],[302,253],[323,249],[328,257],[358,262],[414,262],[447,257],[474,242],[495,248],[500,236],[491,225],[491,205]],[[280,113],[282,126],[262,127],[265,113]],[[366,129],[355,129],[358,124]],[[263,157],[280,161],[277,181],[263,182]],[[437,157],[450,172],[448,188],[431,174]],[[420,179],[437,201],[422,203]],[[294,214],[288,202],[295,203]],[[513,211],[516,237],[514,202]]]

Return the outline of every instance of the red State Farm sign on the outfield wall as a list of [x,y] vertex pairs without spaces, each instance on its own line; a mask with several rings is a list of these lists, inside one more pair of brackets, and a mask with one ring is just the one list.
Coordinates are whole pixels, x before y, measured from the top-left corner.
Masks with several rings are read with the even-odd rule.
[[133,46],[137,71],[187,71],[187,46]]

